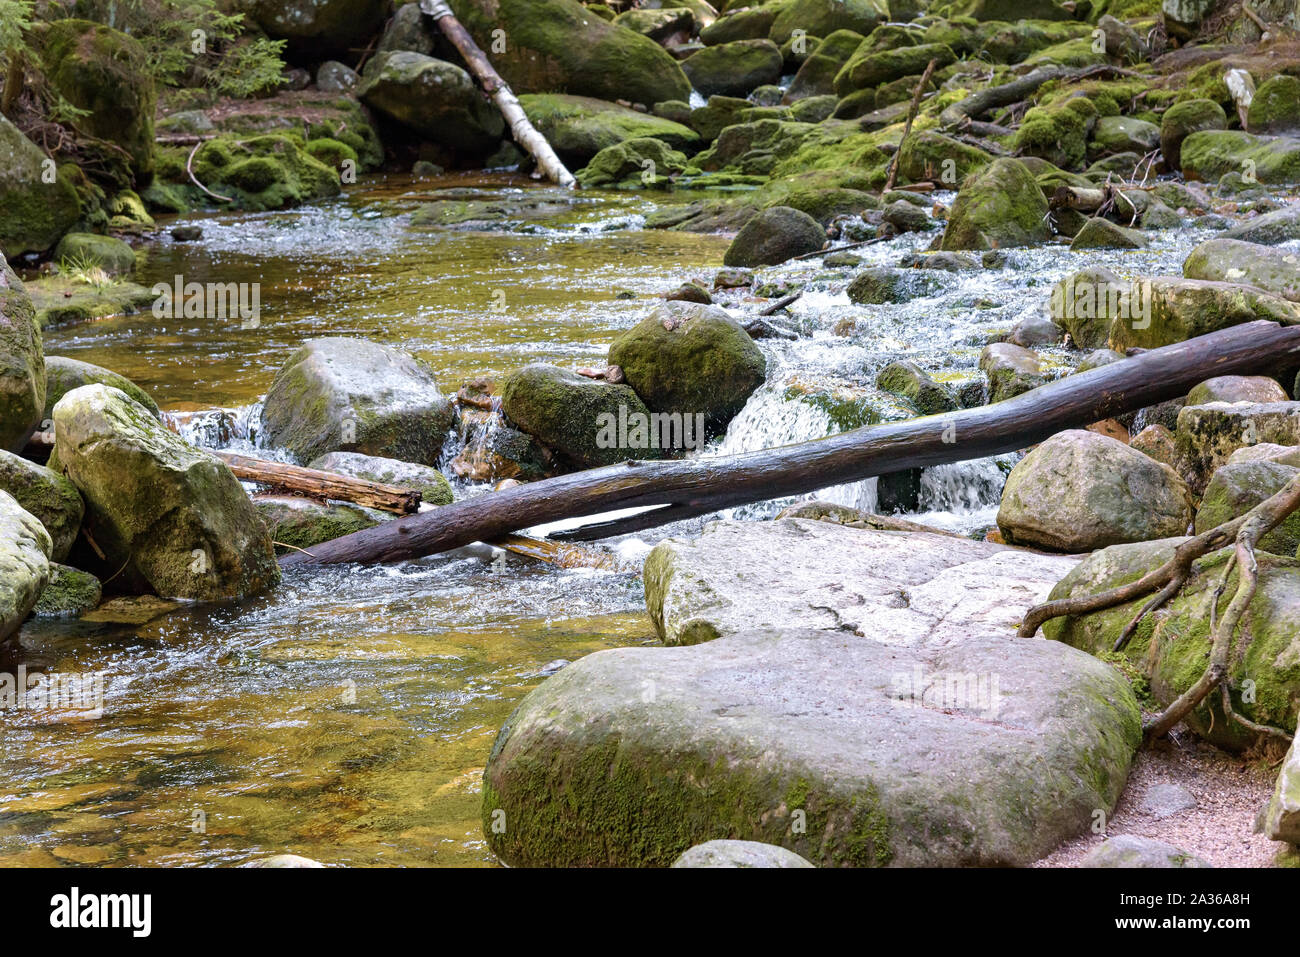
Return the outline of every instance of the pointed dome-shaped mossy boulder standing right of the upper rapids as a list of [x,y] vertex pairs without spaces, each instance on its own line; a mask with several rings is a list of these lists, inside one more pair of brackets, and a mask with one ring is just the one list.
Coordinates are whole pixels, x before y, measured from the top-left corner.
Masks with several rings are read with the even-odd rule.
[[1000,157],[967,177],[953,203],[942,250],[1030,246],[1052,238],[1048,202],[1019,160]]

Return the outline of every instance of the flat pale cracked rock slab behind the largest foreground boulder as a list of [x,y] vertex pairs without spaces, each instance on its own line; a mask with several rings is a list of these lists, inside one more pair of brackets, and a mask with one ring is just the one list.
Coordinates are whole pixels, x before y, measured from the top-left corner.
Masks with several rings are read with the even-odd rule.
[[1079,559],[916,532],[810,519],[716,521],[670,538],[645,564],[646,609],[664,644],[780,624],[889,645],[1010,636]]

